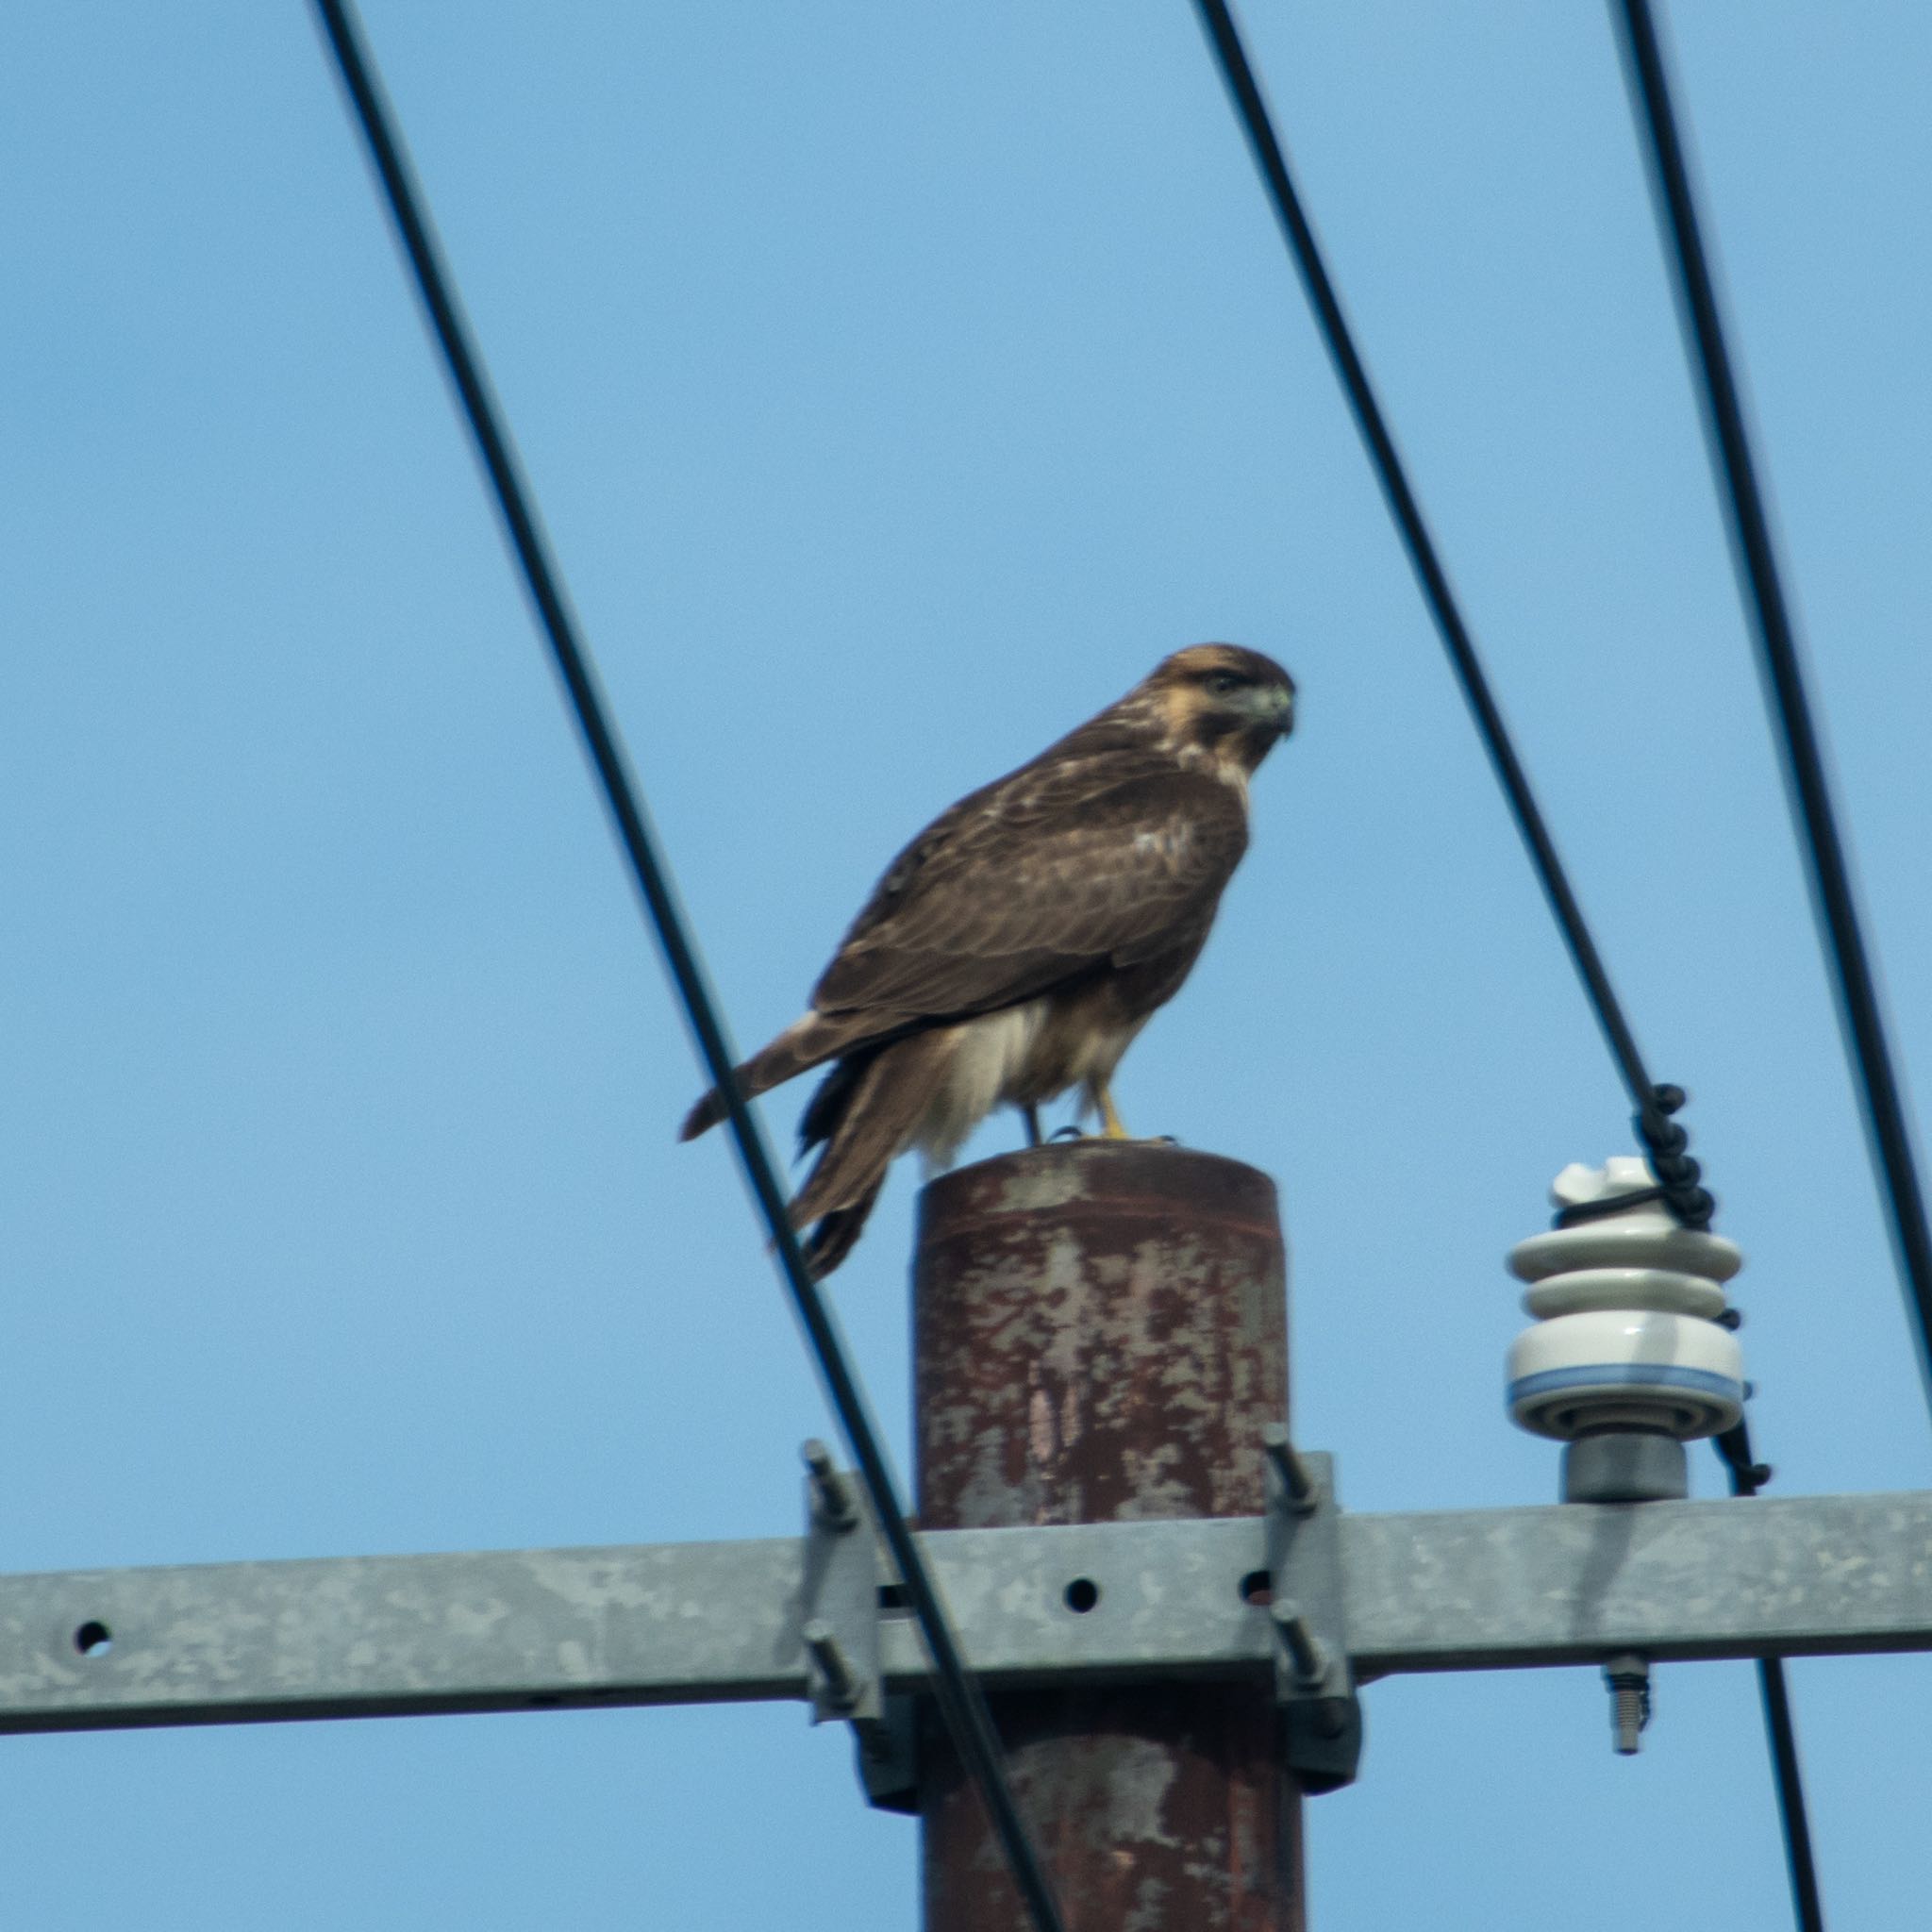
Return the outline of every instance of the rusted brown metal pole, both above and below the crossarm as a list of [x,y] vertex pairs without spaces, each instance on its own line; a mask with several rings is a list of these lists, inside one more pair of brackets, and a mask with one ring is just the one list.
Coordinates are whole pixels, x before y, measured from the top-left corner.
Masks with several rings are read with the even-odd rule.
[[[1090,1140],[945,1175],[920,1211],[914,1335],[929,1528],[1264,1509],[1287,1267],[1252,1167]],[[1070,1590],[1070,1617],[1095,1609]],[[1265,1683],[1005,1692],[993,1718],[1070,1932],[1300,1932],[1300,1797]],[[1024,1932],[937,1735],[922,1820],[927,1932]]]

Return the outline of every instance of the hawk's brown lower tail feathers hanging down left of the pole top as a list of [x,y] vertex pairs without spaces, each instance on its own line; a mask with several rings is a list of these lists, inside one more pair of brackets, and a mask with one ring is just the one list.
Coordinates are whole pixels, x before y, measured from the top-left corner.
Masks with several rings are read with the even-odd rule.
[[956,1047],[951,1028],[895,1039],[866,1055],[856,1072],[835,1068],[813,1097],[806,1121],[825,1151],[792,1202],[792,1225],[817,1223],[806,1242],[815,1275],[829,1275],[852,1250],[887,1167],[910,1144]]

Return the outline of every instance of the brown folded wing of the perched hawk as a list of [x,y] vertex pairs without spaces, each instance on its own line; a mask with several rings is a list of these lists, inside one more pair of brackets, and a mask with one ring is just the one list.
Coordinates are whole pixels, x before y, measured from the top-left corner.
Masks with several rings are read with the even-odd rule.
[[893,862],[811,1005],[964,1016],[1153,958],[1198,935],[1246,842],[1235,792],[1165,759],[1022,769]]

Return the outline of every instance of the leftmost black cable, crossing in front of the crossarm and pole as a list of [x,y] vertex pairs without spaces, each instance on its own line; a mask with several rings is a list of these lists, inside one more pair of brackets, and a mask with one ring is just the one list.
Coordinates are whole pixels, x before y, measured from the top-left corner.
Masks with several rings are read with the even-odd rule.
[[705,1068],[724,1097],[732,1140],[738,1146],[738,1159],[744,1165],[746,1180],[750,1182],[759,1213],[771,1231],[771,1244],[786,1287],[792,1293],[798,1320],[806,1329],[819,1376],[825,1381],[840,1428],[852,1447],[852,1457],[858,1463],[860,1476],[866,1482],[879,1530],[904,1578],[920,1633],[933,1660],[933,1694],[952,1733],[954,1748],[980,1787],[993,1828],[1007,1851],[1007,1861],[1012,1866],[1014,1884],[1026,1901],[1034,1924],[1039,1932],[1063,1932],[1059,1905],[1053,1899],[1045,1872],[1028,1839],[1026,1824],[1007,1785],[999,1739],[993,1731],[985,1698],[966,1671],[958,1640],[952,1634],[951,1621],[939,1598],[939,1588],[925,1569],[918,1542],[898,1507],[896,1484],[885,1461],[877,1430],[867,1414],[866,1397],[852,1368],[846,1364],[831,1312],[806,1267],[771,1155],[732,1072],[734,1055],[730,1041],[724,1037],[717,999],[707,985],[684,914],[678,908],[668,869],[645,817],[641,790],[630,771],[630,759],[624,753],[616,724],[599,688],[597,672],[564,589],[562,574],[551,556],[551,545],[537,516],[535,497],[510,442],[502,408],[497,402],[489,375],[483,369],[483,357],[471,338],[456,296],[454,278],[442,261],[421,185],[404,151],[394,108],[375,73],[361,21],[355,15],[352,0],[315,0],[315,10],[321,15],[328,46],[336,56],[350,104],[369,143],[369,155],[383,182],[390,214],[396,220],[396,232],[410,257],[410,267],[415,270],[423,307],[429,311],[431,327],[448,363],[450,379],[456,384],[464,415],[477,442],[477,452],[483,458],[483,468],[489,471],[510,545],[522,564],[531,603],[537,609],[543,632],[556,659],[556,668],[570,694],[570,705],[583,730],[591,763],[597,767],[597,777],[603,782],[611,817],[616,821],[618,837],[630,858],[638,891],[643,896],[651,927],[665,954],[665,964],[684,1003],[684,1014],[703,1055]]

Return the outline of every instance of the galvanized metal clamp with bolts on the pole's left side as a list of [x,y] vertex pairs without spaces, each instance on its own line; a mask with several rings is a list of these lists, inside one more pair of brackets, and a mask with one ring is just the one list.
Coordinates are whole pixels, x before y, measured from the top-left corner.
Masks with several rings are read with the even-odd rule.
[[858,1779],[881,1810],[918,1810],[914,1700],[879,1675],[879,1546],[860,1486],[817,1437],[806,1463],[806,1561],[798,1590],[811,1721],[852,1725]]

